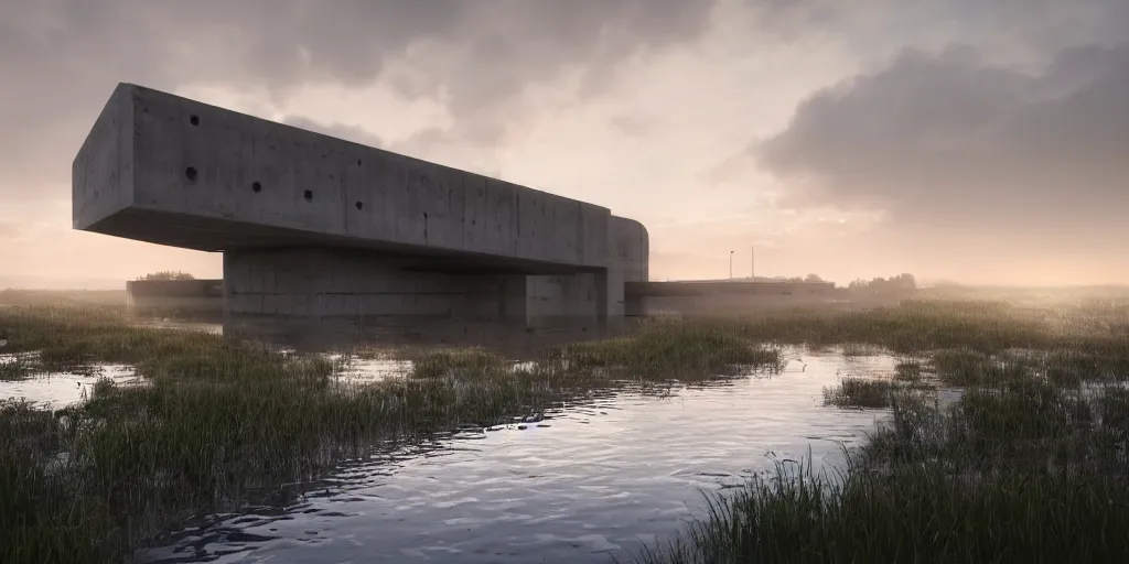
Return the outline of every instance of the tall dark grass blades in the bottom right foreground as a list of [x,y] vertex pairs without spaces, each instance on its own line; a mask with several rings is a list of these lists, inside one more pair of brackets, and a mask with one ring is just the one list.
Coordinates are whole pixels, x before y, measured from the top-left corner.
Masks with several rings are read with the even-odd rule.
[[1123,562],[1129,492],[1097,475],[998,474],[978,481],[936,468],[828,479],[779,468],[728,497],[644,562]]

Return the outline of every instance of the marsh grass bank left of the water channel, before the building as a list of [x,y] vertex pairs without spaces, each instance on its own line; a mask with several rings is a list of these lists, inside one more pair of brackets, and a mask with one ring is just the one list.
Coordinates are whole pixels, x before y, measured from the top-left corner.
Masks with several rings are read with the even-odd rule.
[[283,503],[382,446],[536,417],[623,379],[779,363],[744,337],[663,325],[545,351],[523,370],[482,349],[415,352],[406,378],[356,384],[322,356],[134,327],[103,305],[2,308],[0,338],[0,353],[37,352],[30,370],[125,363],[146,381],[99,381],[91,399],[58,412],[0,406],[0,435],[20,438],[0,446],[0,503],[14,508],[0,520],[6,563],[121,561],[189,518]]

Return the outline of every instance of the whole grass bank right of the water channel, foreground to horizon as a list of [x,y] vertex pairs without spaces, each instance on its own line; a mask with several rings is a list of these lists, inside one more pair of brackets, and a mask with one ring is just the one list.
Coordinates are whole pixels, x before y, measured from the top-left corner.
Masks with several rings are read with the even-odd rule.
[[637,559],[1124,562],[1129,353],[1119,324],[1008,316],[997,308],[972,332],[988,344],[954,335],[920,353],[925,362],[898,367],[899,381],[963,388],[951,408],[920,389],[844,379],[828,403],[892,408],[848,451],[846,469],[778,466],[735,494],[711,494],[702,519]]

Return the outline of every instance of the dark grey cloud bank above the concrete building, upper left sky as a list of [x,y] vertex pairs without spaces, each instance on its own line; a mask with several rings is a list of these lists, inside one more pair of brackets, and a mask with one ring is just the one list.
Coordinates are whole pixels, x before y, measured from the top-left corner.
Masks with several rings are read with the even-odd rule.
[[[281,99],[307,83],[370,83],[410,47],[434,44],[448,60],[427,60],[419,77],[394,83],[405,94],[445,99],[456,120],[501,118],[516,94],[564,69],[599,83],[623,58],[698,37],[711,7],[681,0],[0,0],[0,191],[46,194],[28,187],[65,184],[73,152],[121,81],[164,90],[217,83]],[[469,134],[498,133],[476,125]]]

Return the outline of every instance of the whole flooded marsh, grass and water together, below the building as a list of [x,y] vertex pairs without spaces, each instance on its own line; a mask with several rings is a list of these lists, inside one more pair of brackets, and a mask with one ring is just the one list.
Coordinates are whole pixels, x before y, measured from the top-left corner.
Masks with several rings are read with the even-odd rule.
[[[20,364],[0,368],[0,559],[828,562],[986,556],[992,538],[1038,555],[1042,535],[1124,519],[1086,501],[1126,485],[1123,319],[1068,314],[1089,317],[908,302],[656,321],[515,362],[2,308],[0,355]],[[986,530],[907,529],[960,511]]]

